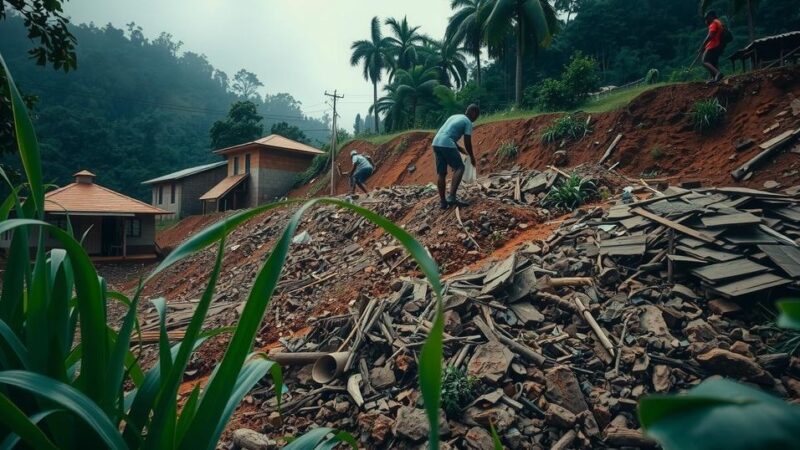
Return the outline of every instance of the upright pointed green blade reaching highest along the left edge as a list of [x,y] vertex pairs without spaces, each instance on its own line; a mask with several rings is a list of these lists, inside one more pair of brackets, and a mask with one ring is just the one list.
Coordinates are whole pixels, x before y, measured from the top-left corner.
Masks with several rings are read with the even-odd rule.
[[42,158],[39,154],[39,143],[36,142],[36,133],[33,131],[33,123],[28,115],[25,102],[14,84],[11,71],[6,66],[6,61],[0,56],[0,65],[6,74],[8,92],[11,97],[11,109],[14,115],[14,131],[17,136],[17,147],[19,156],[22,159],[22,167],[28,177],[28,187],[31,190],[31,197],[36,207],[35,217],[44,218],[44,181],[42,177]]

